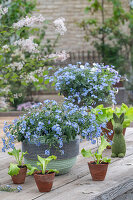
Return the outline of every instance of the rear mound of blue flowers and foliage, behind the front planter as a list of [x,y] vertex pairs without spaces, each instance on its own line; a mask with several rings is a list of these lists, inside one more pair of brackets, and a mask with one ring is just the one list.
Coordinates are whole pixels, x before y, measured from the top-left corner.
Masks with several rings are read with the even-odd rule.
[[115,94],[118,89],[113,85],[120,81],[120,75],[113,66],[77,63],[59,68],[54,76],[45,75],[45,79],[54,82],[55,89],[60,91],[66,100],[79,106],[94,106],[101,102],[116,103]]

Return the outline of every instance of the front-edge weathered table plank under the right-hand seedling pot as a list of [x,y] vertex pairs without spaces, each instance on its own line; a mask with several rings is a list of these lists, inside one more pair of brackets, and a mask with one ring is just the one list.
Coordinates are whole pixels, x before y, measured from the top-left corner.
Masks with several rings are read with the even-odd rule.
[[[48,198],[52,200],[112,200],[116,196],[122,194],[122,192],[127,192],[133,188],[133,166],[126,165],[126,163],[128,163],[131,159],[132,155],[112,163],[109,166],[105,181],[92,181],[90,174],[88,174],[87,176],[73,181],[70,184],[58,188],[58,190],[53,190],[49,194],[42,194],[40,197],[34,199],[43,200],[44,198]],[[125,187],[122,183],[124,180]],[[104,191],[106,191],[106,193],[104,193]],[[109,191],[110,193],[108,195]],[[114,193],[111,191],[114,191]],[[118,191],[119,193],[117,193]],[[99,196],[100,193],[101,196]]]

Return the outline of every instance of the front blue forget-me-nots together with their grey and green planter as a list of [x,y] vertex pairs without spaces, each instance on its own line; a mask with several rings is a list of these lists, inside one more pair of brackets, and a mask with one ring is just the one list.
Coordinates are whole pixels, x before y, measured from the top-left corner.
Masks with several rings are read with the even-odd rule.
[[57,156],[47,166],[67,173],[79,153],[79,135],[95,142],[105,123],[98,124],[96,116],[87,112],[87,107],[79,108],[72,103],[57,104],[46,100],[39,103],[12,124],[4,126],[3,151],[12,148],[14,140],[22,142],[26,164],[35,165],[37,155]]

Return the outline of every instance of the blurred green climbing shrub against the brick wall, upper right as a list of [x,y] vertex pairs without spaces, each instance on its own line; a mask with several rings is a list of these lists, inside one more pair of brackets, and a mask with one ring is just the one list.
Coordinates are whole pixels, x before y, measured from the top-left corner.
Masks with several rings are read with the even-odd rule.
[[[129,6],[129,2],[126,9],[120,0],[87,1],[85,12],[91,14],[92,18],[86,18],[79,23],[85,31],[85,40],[92,41],[94,48],[102,57],[102,62],[114,65],[120,74],[130,75],[131,78],[133,76],[131,75],[133,73],[133,9]],[[108,10],[111,12],[109,16],[107,16]],[[95,14],[98,14],[99,18],[96,18]],[[122,27],[126,23],[128,31],[125,33]]]

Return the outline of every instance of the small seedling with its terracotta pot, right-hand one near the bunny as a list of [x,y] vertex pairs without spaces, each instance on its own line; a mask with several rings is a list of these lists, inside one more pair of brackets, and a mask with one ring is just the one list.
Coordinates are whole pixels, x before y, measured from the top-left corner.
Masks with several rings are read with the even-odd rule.
[[109,145],[109,142],[106,141],[104,136],[101,136],[101,144],[98,147],[98,150],[94,153],[91,152],[91,149],[85,150],[84,148],[81,151],[81,154],[84,157],[93,157],[94,161],[88,162],[88,166],[90,169],[90,173],[92,176],[93,181],[103,181],[106,176],[108,164],[110,163],[111,159],[106,157],[102,157],[102,153],[104,149]]

